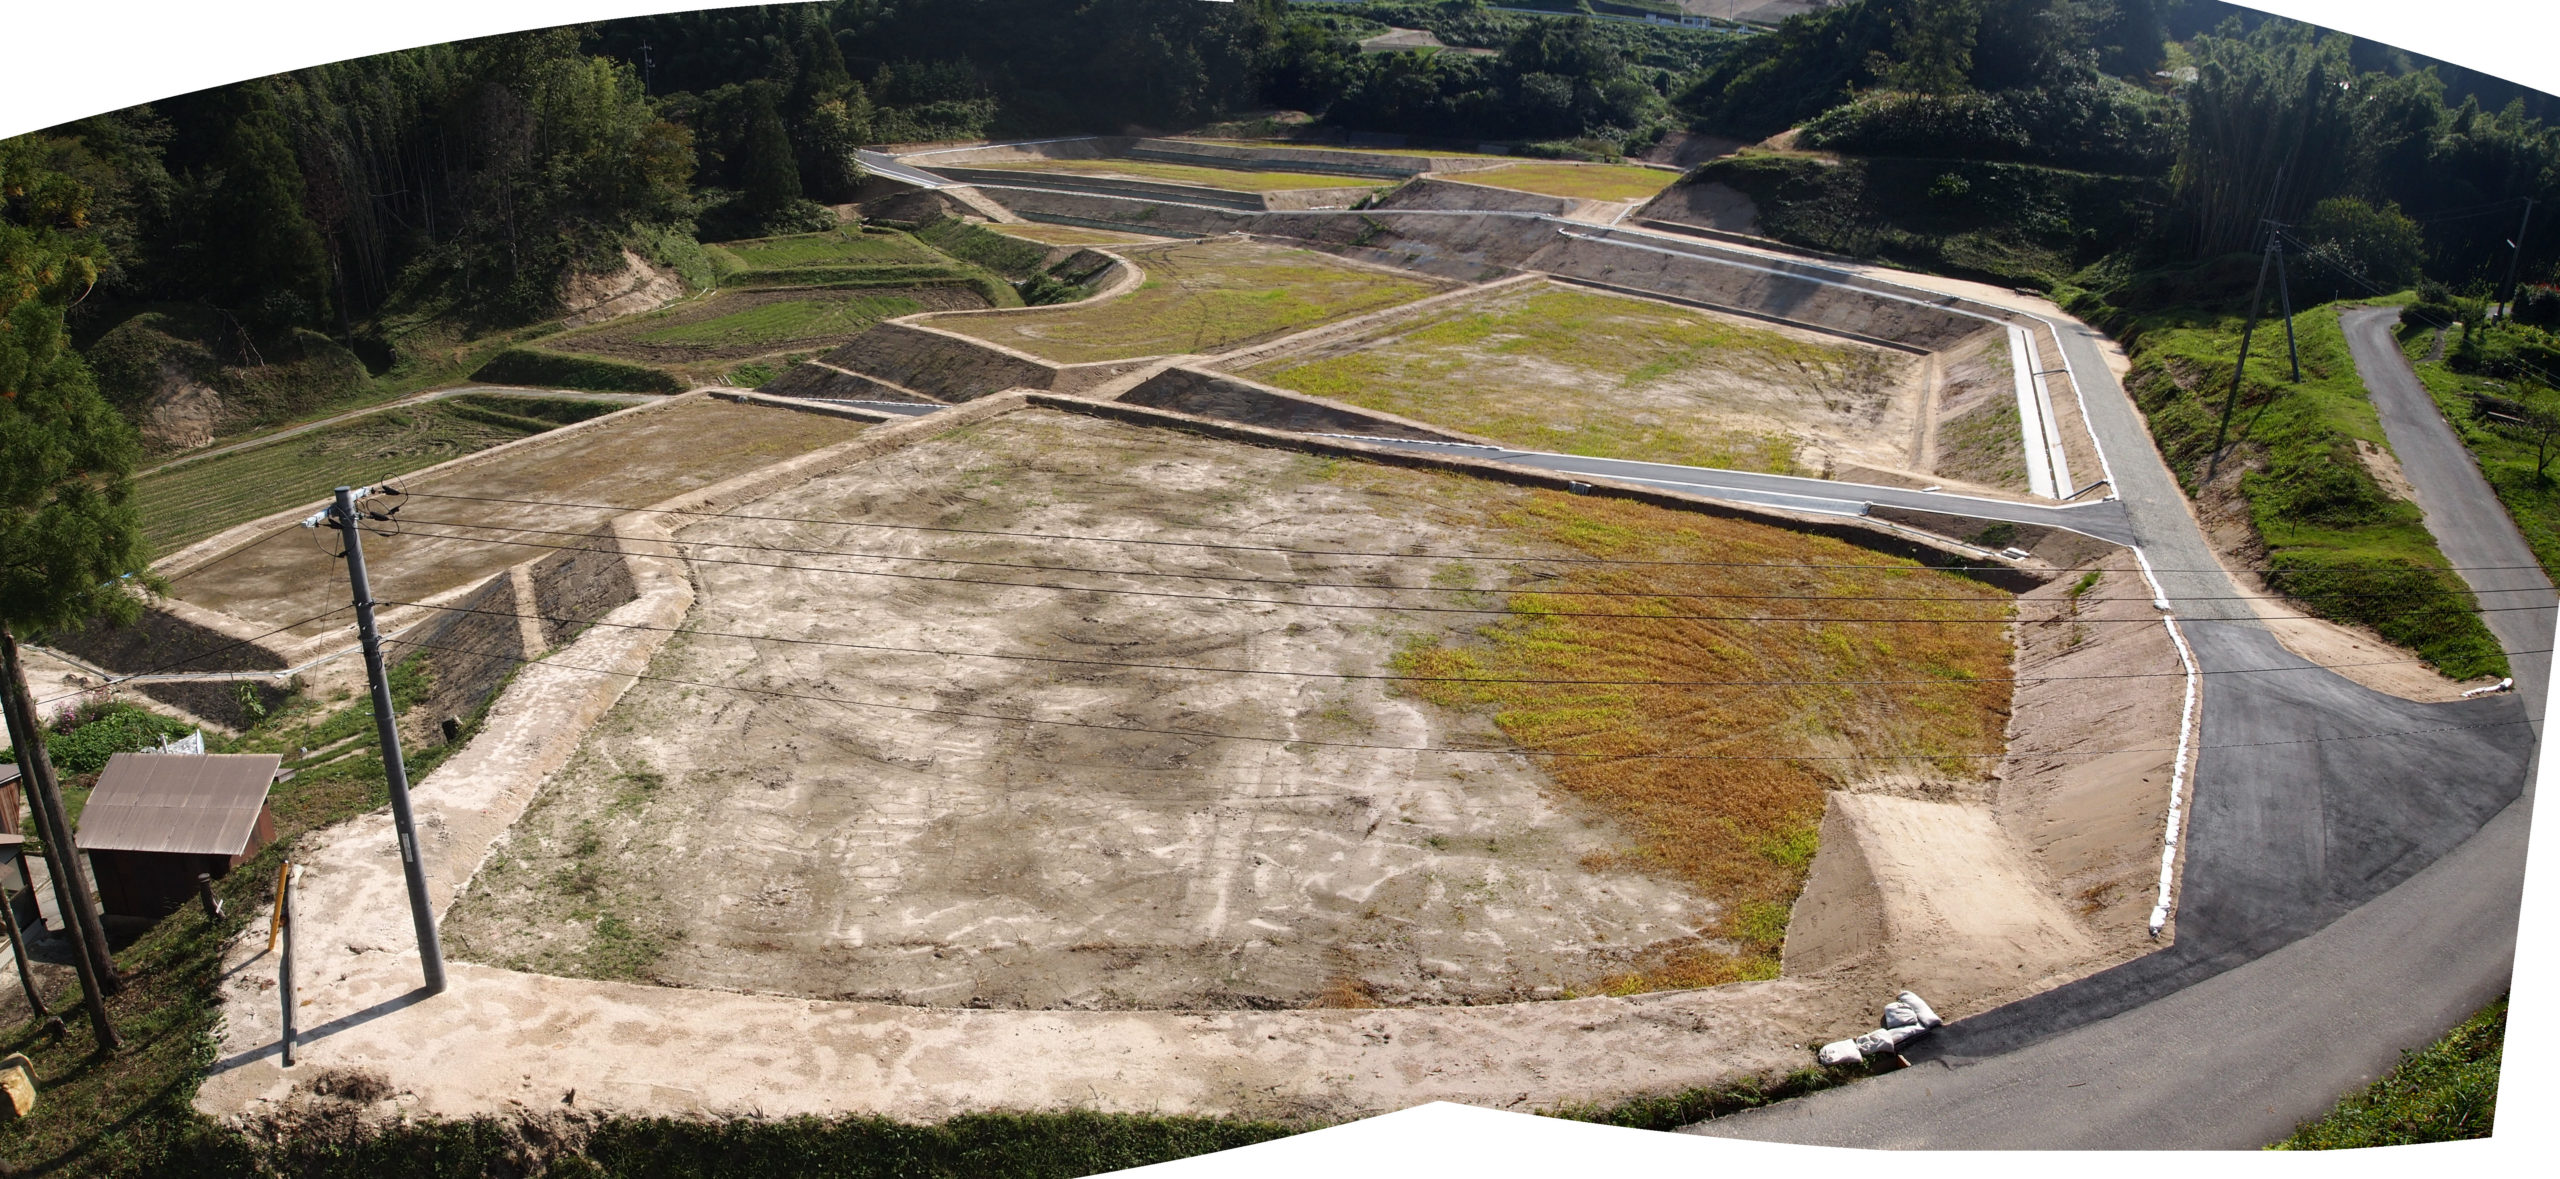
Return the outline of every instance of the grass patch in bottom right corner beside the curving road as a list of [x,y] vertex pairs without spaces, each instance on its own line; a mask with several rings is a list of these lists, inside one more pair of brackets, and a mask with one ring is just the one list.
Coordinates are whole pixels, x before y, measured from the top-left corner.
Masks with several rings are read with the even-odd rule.
[[2271,1151],[2342,1151],[2488,1138],[2499,1118],[2499,1064],[2506,1056],[2506,1000],[2419,1051],[2401,1051],[2391,1074],[2301,1123]]

